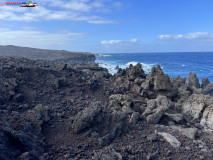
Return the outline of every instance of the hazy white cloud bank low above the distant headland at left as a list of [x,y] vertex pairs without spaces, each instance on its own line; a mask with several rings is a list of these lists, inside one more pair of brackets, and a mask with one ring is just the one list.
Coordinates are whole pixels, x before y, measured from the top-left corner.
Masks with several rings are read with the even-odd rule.
[[35,48],[63,48],[71,42],[85,38],[85,33],[47,33],[26,28],[23,30],[0,29],[0,45],[17,45]]

